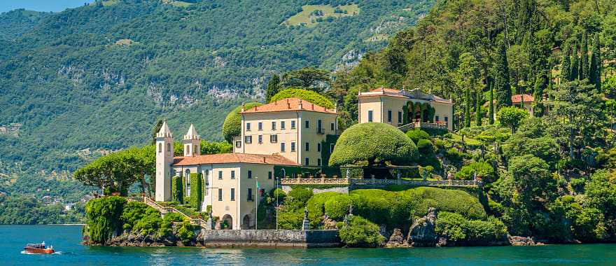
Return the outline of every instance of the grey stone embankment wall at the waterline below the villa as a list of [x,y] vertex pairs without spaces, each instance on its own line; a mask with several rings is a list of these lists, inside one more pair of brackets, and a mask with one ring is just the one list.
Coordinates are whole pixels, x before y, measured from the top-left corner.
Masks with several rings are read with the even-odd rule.
[[340,246],[338,230],[201,230],[197,241],[206,247],[296,247]]

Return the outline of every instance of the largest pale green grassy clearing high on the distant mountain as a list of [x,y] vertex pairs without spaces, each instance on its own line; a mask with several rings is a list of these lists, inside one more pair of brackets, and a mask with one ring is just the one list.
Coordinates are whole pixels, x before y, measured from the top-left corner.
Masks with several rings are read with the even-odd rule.
[[[341,10],[346,11],[346,13],[335,13],[334,11],[336,10],[336,8],[340,8]],[[305,24],[307,27],[314,27],[314,25],[318,23],[316,21],[317,17],[314,15],[311,15],[314,12],[314,10],[323,11],[323,15],[318,16],[318,18],[322,18],[323,20],[325,20],[325,18],[330,18],[330,17],[339,18],[339,17],[346,17],[349,15],[357,15],[360,11],[360,8],[356,3],[353,3],[351,5],[346,5],[346,6],[337,6],[336,8],[330,5],[302,6],[302,12],[297,13],[293,15],[292,17],[288,18],[288,20],[283,22],[283,24],[288,25],[288,26],[296,26],[296,25]]]

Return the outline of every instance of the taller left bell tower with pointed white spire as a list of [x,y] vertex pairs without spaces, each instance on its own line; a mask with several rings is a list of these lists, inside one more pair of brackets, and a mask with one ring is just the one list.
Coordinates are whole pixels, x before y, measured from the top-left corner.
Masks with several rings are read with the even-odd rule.
[[171,165],[173,164],[173,133],[167,121],[162,123],[156,133],[156,189],[157,202],[171,201]]

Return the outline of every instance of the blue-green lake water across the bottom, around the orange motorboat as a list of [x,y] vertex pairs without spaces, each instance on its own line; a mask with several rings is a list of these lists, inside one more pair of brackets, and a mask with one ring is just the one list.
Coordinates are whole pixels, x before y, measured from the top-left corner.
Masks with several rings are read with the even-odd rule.
[[[0,225],[0,265],[616,265],[616,244],[456,248],[83,246],[78,225]],[[22,254],[45,241],[58,254]]]

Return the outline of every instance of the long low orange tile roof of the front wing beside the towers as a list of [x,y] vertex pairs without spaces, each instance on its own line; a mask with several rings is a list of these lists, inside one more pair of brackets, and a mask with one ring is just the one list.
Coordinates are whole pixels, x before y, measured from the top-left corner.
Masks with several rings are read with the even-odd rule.
[[297,163],[284,158],[279,154],[262,155],[249,153],[223,153],[198,156],[175,157],[174,166],[182,165],[210,165],[229,163],[248,163],[262,165],[297,165]]

